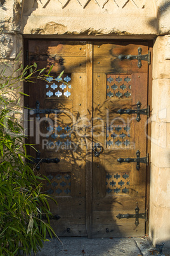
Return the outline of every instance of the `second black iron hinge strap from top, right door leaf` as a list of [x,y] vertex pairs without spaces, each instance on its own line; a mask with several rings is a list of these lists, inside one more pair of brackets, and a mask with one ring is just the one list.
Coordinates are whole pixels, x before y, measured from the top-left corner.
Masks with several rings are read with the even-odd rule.
[[117,113],[122,115],[122,114],[128,114],[128,115],[131,115],[131,114],[136,114],[137,117],[136,117],[136,121],[137,122],[140,122],[141,118],[140,118],[140,115],[147,115],[147,118],[149,118],[149,112],[150,112],[150,106],[148,105],[147,108],[143,108],[143,110],[140,109],[141,107],[141,103],[140,101],[138,101],[138,103],[136,103],[136,106],[137,106],[137,110],[122,110],[122,108],[120,110],[117,110]]

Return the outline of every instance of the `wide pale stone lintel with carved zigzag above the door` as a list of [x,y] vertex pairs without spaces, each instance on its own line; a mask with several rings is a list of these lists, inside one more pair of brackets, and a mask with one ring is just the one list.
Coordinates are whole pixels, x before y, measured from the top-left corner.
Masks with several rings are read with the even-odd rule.
[[145,0],[30,0],[22,17],[23,34],[157,34],[154,4]]

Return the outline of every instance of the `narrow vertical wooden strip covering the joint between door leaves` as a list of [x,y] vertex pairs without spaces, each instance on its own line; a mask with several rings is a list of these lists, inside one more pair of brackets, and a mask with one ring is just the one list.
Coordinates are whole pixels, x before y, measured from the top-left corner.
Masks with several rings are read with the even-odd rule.
[[[89,130],[92,131],[92,118],[93,118],[93,43],[87,43],[87,118],[91,121],[91,127]],[[91,133],[89,133],[91,134]],[[87,156],[86,156],[86,229],[88,232],[88,238],[91,238],[91,225],[92,225],[92,136],[86,137],[87,145]]]

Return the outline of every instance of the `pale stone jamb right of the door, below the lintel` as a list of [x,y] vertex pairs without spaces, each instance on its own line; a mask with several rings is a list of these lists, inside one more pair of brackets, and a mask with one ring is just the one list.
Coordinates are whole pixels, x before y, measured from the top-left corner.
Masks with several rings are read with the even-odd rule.
[[150,178],[150,237],[170,247],[170,36],[154,44],[152,87],[152,151]]

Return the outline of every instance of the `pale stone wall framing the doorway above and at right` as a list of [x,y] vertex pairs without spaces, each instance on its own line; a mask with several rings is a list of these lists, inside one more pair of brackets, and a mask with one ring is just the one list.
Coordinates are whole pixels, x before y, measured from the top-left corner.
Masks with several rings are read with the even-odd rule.
[[170,246],[169,10],[169,0],[0,0],[1,68],[4,60],[14,66],[23,34],[28,38],[155,38],[150,238],[154,245],[163,241],[166,246]]

